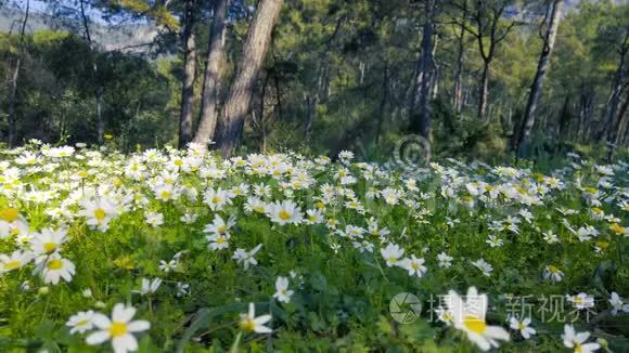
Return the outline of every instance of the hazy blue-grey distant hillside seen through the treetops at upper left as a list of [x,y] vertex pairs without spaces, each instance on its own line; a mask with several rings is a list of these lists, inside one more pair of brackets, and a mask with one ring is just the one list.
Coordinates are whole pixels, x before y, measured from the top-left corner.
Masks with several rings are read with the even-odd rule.
[[[17,9],[0,8],[0,31],[18,30],[18,23],[24,18],[24,12]],[[30,13],[27,23],[29,32],[43,29],[66,29],[70,31],[82,32],[81,24],[68,17],[52,17],[42,13]],[[153,41],[157,36],[157,27],[152,25],[124,25],[124,26],[103,26],[90,24],[90,34],[92,39],[99,43],[103,50],[117,50],[139,45]],[[133,51],[127,49],[126,51]]]

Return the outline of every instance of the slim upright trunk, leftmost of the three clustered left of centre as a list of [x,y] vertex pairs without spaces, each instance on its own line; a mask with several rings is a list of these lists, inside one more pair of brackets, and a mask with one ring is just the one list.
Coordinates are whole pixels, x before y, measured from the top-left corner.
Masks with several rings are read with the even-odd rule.
[[179,148],[192,140],[192,106],[194,103],[194,74],[196,71],[196,43],[194,38],[195,0],[185,1],[183,25],[183,77],[181,78],[181,114],[179,116]]

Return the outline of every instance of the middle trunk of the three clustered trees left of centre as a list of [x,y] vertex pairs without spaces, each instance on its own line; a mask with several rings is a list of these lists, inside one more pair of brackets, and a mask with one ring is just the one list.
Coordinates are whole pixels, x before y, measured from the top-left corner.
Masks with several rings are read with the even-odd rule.
[[209,31],[207,62],[201,94],[201,118],[194,142],[207,144],[216,133],[220,92],[221,64],[224,57],[224,19],[229,0],[216,0]]

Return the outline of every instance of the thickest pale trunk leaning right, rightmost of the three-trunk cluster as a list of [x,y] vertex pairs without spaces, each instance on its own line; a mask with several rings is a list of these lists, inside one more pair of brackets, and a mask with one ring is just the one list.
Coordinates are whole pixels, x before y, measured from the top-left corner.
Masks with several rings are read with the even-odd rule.
[[218,121],[217,147],[223,156],[230,156],[240,144],[254,82],[262,66],[282,3],[283,0],[260,0],[249,25],[235,78]]

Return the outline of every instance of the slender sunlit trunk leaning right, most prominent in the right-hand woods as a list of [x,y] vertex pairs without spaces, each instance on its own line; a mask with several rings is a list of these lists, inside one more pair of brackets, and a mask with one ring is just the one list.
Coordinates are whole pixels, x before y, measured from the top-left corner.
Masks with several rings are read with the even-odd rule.
[[550,65],[550,57],[555,43],[557,28],[560,26],[562,3],[563,0],[554,0],[552,4],[549,4],[549,6],[552,6],[552,10],[550,11],[550,23],[543,38],[543,48],[539,56],[537,73],[530,87],[526,110],[524,112],[523,127],[519,131],[519,138],[517,139],[517,156],[521,158],[528,156],[529,154],[530,134],[532,132],[532,127],[535,126],[537,107],[543,87],[543,79]]

